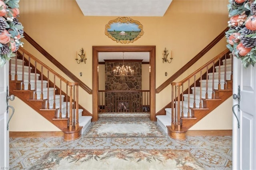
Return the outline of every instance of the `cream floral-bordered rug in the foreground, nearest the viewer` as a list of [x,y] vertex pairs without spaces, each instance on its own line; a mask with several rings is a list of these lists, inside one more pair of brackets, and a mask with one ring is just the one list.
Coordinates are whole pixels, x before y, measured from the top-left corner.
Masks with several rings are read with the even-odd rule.
[[30,170],[204,170],[187,150],[51,150]]

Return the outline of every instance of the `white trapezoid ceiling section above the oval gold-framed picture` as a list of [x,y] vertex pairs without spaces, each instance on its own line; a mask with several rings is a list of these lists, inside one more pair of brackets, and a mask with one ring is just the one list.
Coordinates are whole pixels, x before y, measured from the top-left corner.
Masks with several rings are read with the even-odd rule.
[[172,0],[76,0],[84,16],[164,16]]

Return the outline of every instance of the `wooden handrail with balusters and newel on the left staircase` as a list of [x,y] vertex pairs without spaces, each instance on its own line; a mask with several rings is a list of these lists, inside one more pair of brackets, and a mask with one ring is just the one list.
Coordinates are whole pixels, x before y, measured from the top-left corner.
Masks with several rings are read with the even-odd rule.
[[[54,121],[54,120],[61,120],[63,123],[60,123],[60,127],[63,128],[63,125],[66,122],[66,126],[67,128],[63,128],[62,131],[64,132],[74,132],[74,131],[78,131],[79,130],[79,115],[78,115],[78,110],[79,110],[79,101],[78,101],[78,82],[70,82],[67,79],[65,79],[64,77],[62,77],[60,74],[58,74],[56,71],[54,71],[53,69],[51,69],[50,67],[48,67],[46,64],[44,64],[42,61],[40,61],[38,58],[34,57],[31,53],[29,53],[28,51],[26,51],[24,48],[20,47],[18,49],[19,52],[22,53],[22,80],[19,81],[21,82],[21,88],[16,86],[17,90],[23,90],[26,92],[32,92],[32,94],[30,94],[30,96],[28,97],[27,100],[30,101],[38,101],[38,102],[44,102],[41,103],[42,104],[42,108],[39,111],[53,111],[54,112],[54,117],[52,114],[48,115],[48,120],[50,121]],[[26,57],[25,57],[26,55]],[[28,58],[28,66],[26,66],[28,69],[28,85],[27,88],[25,88],[25,65],[24,65],[24,61],[25,58]],[[31,62],[34,62],[34,65]],[[12,79],[11,73],[12,73],[12,62],[10,62],[10,67],[9,67],[9,75],[10,75],[10,79]],[[39,66],[40,65],[40,66]],[[35,69],[35,73],[34,73],[34,80],[31,81],[31,68],[34,67]],[[41,67],[41,79],[37,80],[37,68]],[[47,80],[43,79],[43,70],[47,71]],[[18,55],[16,55],[15,57],[15,75],[14,75],[14,81],[17,83],[18,82]],[[53,79],[54,79],[54,85],[53,87],[50,87],[50,74],[53,75]],[[59,102],[56,102],[56,78],[59,79],[59,85],[60,85],[60,94],[59,95]],[[47,85],[46,87],[44,87],[43,83],[44,81],[47,81]],[[58,81],[58,80],[57,80]],[[31,86],[31,82],[33,82],[34,87]],[[41,84],[38,88],[37,84],[39,83]],[[66,84],[66,95],[64,98],[66,98],[66,108],[64,112],[66,112],[65,117],[62,117],[62,104],[64,104],[62,101],[62,83]],[[32,88],[31,88],[32,87]],[[53,88],[50,93],[50,88]],[[64,87],[65,88],[65,87]],[[64,89],[63,88],[63,89]],[[15,89],[16,90],[16,89]],[[40,92],[39,92],[40,91]],[[40,97],[38,98],[37,93],[40,93]],[[52,94],[53,93],[53,94]],[[53,97],[50,98],[50,95],[52,95]],[[46,96],[46,97],[45,97]],[[50,104],[50,100],[53,100],[53,103]],[[58,101],[58,100],[57,100]],[[58,105],[56,105],[56,103]],[[69,103],[69,104],[68,104]],[[65,104],[64,104],[65,105]],[[38,108],[37,108],[38,109]],[[64,136],[65,139],[65,136]]]

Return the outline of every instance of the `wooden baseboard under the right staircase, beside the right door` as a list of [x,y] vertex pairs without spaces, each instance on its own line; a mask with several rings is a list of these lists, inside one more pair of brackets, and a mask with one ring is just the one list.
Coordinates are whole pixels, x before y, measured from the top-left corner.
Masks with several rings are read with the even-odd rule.
[[188,130],[186,136],[232,136],[232,130]]

